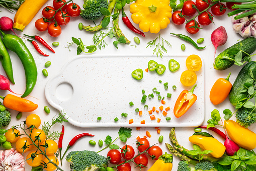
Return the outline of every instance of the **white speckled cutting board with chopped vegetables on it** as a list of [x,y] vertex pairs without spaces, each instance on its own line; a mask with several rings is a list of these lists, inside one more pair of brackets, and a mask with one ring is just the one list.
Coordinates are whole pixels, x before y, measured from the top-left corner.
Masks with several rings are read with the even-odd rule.
[[[195,104],[180,118],[174,116],[174,105],[180,93],[184,90],[190,90],[192,87],[184,87],[180,82],[180,76],[184,70],[187,70],[185,61],[188,56],[165,55],[162,58],[152,55],[122,55],[122,56],[96,56],[79,55],[68,61],[61,71],[49,79],[45,87],[45,96],[49,104],[66,113],[68,121],[78,127],[193,127],[199,126],[204,121],[205,103],[204,103],[204,64],[197,74],[197,87],[194,93],[198,99]],[[177,60],[181,67],[176,72],[170,72],[168,61]],[[202,59],[202,58],[201,58]],[[147,68],[148,61],[154,60],[158,64],[166,66],[162,75],[155,71],[144,71]],[[131,72],[137,68],[143,70],[143,78],[136,80],[132,78]],[[159,80],[162,80],[160,83]],[[163,83],[168,82],[168,89],[164,89]],[[173,90],[173,85],[177,89]],[[161,97],[165,97],[165,105],[157,99],[152,89],[156,88]],[[146,103],[142,104],[142,90],[145,95],[154,94],[154,98],[146,98]],[[172,98],[166,98],[167,93],[172,94]],[[133,102],[133,106],[129,105]],[[148,105],[148,109],[144,109]],[[164,109],[168,106],[166,117],[171,117],[166,121],[160,106]],[[159,111],[151,115],[156,117],[150,120],[148,110],[156,107]],[[135,109],[143,111],[139,116]],[[128,116],[122,117],[122,113]],[[97,118],[102,117],[101,121]],[[114,119],[118,117],[117,122]],[[157,118],[161,119],[157,123]],[[128,121],[133,119],[134,123]],[[145,124],[140,121],[145,120]]]

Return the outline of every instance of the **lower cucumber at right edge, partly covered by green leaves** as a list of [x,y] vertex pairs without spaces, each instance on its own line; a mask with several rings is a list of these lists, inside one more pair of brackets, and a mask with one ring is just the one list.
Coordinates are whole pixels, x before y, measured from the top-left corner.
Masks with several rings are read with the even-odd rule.
[[246,80],[251,78],[250,70],[252,71],[254,78],[256,78],[256,61],[248,62],[238,73],[229,93],[229,101],[233,106],[236,106],[241,99],[246,98],[248,95],[247,92],[241,93],[241,91],[244,90],[243,84]]

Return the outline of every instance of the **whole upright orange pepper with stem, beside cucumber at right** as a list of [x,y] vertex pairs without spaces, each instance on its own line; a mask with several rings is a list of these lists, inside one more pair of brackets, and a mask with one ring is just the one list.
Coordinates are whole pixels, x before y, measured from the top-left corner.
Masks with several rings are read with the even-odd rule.
[[213,87],[210,92],[210,100],[213,105],[218,105],[223,102],[232,88],[232,84],[229,82],[229,77],[231,72],[228,74],[227,78],[219,78],[213,84]]

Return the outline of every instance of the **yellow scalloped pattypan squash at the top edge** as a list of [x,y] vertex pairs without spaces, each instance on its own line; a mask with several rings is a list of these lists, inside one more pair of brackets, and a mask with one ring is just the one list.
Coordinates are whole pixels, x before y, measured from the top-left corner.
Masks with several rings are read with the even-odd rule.
[[172,18],[169,0],[137,0],[130,5],[132,21],[143,32],[158,33],[165,29]]

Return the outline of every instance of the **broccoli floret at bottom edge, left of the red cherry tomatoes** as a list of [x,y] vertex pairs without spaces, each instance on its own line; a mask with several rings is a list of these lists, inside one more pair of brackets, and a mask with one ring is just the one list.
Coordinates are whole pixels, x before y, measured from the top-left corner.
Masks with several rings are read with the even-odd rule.
[[66,156],[66,160],[70,163],[72,171],[94,171],[108,163],[106,157],[99,155],[95,151],[71,151]]

